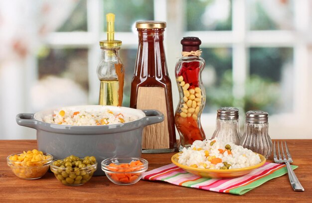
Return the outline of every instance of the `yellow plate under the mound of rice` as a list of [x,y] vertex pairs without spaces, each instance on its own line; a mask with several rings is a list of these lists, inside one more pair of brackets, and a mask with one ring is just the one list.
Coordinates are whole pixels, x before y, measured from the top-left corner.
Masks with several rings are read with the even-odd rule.
[[182,152],[176,153],[171,157],[172,163],[175,164],[176,166],[182,168],[184,171],[187,171],[188,173],[192,173],[194,175],[201,176],[204,178],[214,178],[214,179],[237,178],[237,177],[249,174],[253,170],[259,168],[264,163],[266,163],[266,158],[264,158],[264,156],[262,156],[261,154],[258,154],[260,156],[261,162],[257,165],[254,165],[254,166],[250,166],[250,167],[246,167],[246,168],[240,168],[240,169],[227,169],[227,170],[198,169],[198,168],[185,166],[183,164],[179,164],[177,162],[177,160],[178,160],[178,155],[180,153],[182,153]]

